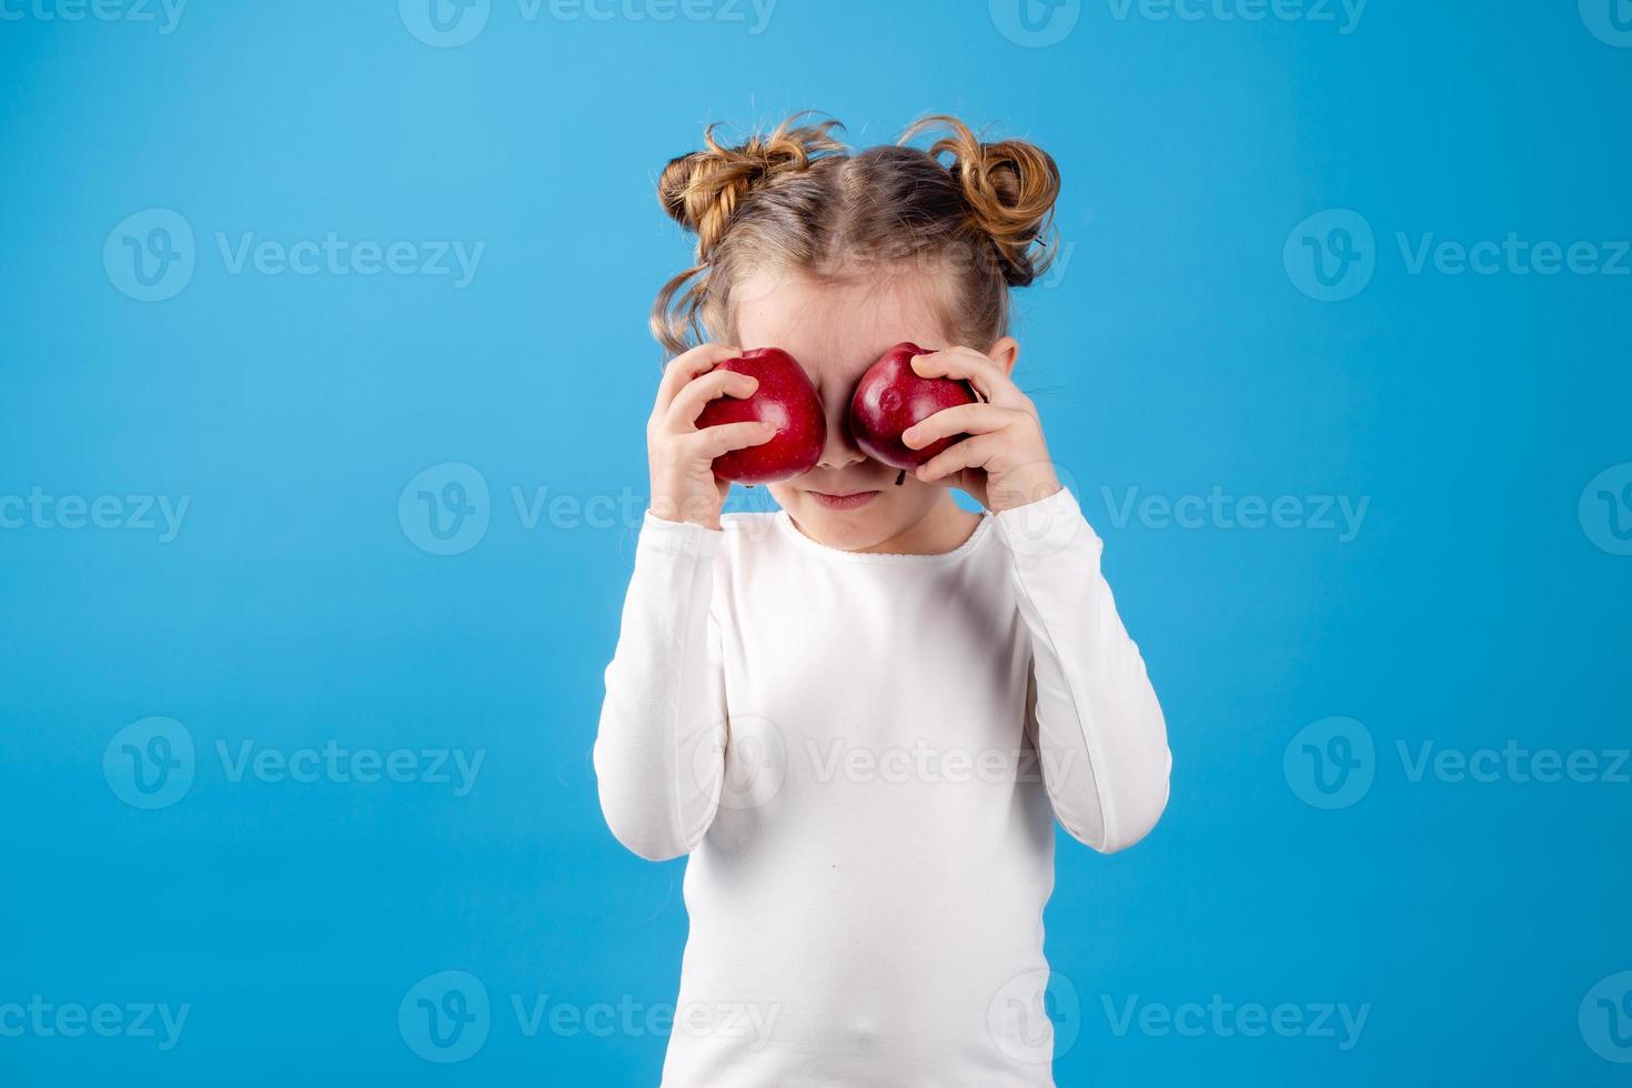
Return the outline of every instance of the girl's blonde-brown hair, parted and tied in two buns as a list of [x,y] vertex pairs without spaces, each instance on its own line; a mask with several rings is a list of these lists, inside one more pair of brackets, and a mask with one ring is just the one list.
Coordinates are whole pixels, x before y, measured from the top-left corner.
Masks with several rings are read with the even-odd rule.
[[[731,336],[731,292],[754,271],[849,282],[871,269],[937,272],[942,316],[958,343],[987,347],[1009,331],[1009,289],[1031,284],[1054,254],[1059,168],[1022,140],[981,142],[956,117],[911,126],[894,145],[852,152],[837,121],[795,114],[736,147],[669,161],[658,199],[697,235],[697,259],[658,294],[651,331],[679,354]],[[907,140],[943,135],[929,150]],[[943,161],[943,157],[950,157]]]

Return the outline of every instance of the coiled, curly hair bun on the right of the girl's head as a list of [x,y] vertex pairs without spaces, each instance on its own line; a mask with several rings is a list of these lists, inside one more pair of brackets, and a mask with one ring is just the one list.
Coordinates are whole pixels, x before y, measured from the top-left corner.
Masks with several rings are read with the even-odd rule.
[[1043,253],[1031,248],[1031,243],[1048,245],[1044,233],[1059,199],[1059,166],[1053,155],[1025,140],[982,144],[966,124],[945,114],[919,121],[901,139],[906,142],[929,127],[948,130],[929,153],[937,160],[951,153],[947,170],[963,189],[974,227],[992,240],[1004,281],[1010,287],[1031,284],[1054,259],[1053,248]]

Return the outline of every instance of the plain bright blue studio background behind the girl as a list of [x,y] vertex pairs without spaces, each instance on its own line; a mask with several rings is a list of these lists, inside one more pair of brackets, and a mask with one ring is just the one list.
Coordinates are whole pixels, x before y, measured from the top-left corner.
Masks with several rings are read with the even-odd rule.
[[[416,38],[411,2],[194,2],[168,34],[29,3],[0,21],[0,496],[189,507],[170,542],[0,530],[0,1005],[191,1011],[170,1050],[0,1036],[0,1083],[656,1083],[661,1033],[527,1037],[511,1011],[672,1002],[685,935],[684,861],[617,847],[588,760],[630,519],[529,527],[512,489],[640,509],[645,315],[689,261],[656,171],[707,121],[803,108],[862,145],[953,111],[1066,178],[1069,261],[1020,295],[1018,377],[1106,538],[1175,768],[1138,848],[1061,843],[1059,1083],[1632,1078],[1593,1044],[1632,1049],[1578,1023],[1632,967],[1632,786],[1412,781],[1397,754],[1629,742],[1632,558],[1578,499],[1632,462],[1632,277],[1413,274],[1397,243],[1632,238],[1632,49],[1608,0],[1608,41],[1591,2],[1377,0],[1342,33],[1342,8],[1097,0],[1053,11],[1051,44],[1004,0],[780,0],[762,33],[749,7],[529,20],[494,0],[457,47]],[[103,261],[145,209],[196,237],[162,302]],[[1283,261],[1327,209],[1376,232],[1342,302]],[[233,274],[215,241],[330,232],[485,251],[455,289]],[[444,463],[490,488],[486,532],[446,556],[398,512]],[[1105,491],[1214,486],[1369,507],[1343,542],[1118,524]],[[155,714],[197,759],[180,801],[142,811],[103,757]],[[1369,791],[1328,811],[1283,757],[1330,716],[1376,755]],[[485,763],[462,798],[233,781],[215,745],[245,741]],[[398,1029],[446,969],[493,1005],[452,1065]],[[1369,1013],[1348,1050],[1118,1036],[1105,1013],[1214,993]]]

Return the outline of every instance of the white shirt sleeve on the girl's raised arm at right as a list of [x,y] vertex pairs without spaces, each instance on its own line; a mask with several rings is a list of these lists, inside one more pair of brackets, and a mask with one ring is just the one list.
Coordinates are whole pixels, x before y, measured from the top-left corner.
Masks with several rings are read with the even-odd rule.
[[1031,638],[1027,726],[1054,816],[1072,838],[1123,850],[1167,807],[1172,754],[1144,659],[1100,573],[1105,545],[1064,488],[996,519]]

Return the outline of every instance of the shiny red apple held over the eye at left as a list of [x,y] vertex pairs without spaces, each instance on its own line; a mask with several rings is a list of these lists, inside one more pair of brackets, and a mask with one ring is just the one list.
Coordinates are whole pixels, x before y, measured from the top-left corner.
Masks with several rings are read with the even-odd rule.
[[715,364],[716,370],[734,370],[759,380],[752,396],[718,396],[697,416],[697,429],[721,422],[774,422],[777,434],[747,449],[731,450],[715,458],[713,470],[721,480],[736,483],[775,483],[803,476],[821,460],[827,444],[827,414],[816,387],[805,369],[780,347],[756,347],[736,359]]

